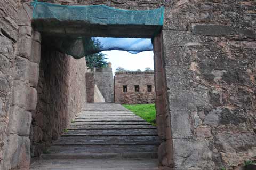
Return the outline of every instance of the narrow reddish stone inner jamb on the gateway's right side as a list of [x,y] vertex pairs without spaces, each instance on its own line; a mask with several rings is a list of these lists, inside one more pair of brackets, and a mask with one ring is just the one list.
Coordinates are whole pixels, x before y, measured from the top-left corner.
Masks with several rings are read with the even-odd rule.
[[158,166],[160,169],[173,167],[173,142],[168,112],[167,83],[164,71],[163,33],[154,38],[154,69],[156,91],[156,124],[162,143],[158,147]]

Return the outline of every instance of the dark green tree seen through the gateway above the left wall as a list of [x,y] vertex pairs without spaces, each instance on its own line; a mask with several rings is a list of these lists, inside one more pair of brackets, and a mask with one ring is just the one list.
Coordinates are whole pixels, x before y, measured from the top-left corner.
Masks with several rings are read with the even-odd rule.
[[102,47],[100,45],[100,41],[99,39],[95,38],[90,38],[90,39],[84,39],[84,42],[86,42],[86,47],[87,47],[87,51],[86,53],[89,53],[91,55],[87,55],[85,56],[86,59],[86,64],[88,68],[102,68],[102,67],[107,67],[107,61],[105,61],[106,58],[106,54],[103,53],[97,53],[100,50],[100,48]]

